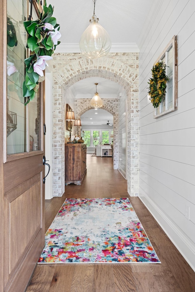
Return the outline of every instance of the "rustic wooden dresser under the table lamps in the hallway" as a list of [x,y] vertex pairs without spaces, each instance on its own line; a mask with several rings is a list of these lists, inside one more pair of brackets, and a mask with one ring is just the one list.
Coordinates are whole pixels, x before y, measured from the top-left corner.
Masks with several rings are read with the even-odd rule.
[[87,172],[86,144],[65,144],[65,185],[81,185]]

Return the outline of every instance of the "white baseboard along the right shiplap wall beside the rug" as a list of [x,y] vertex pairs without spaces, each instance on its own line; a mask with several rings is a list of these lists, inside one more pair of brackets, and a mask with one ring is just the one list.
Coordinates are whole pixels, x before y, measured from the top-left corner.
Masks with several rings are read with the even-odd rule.
[[184,238],[178,226],[159,209],[142,188],[139,188],[139,198],[195,272],[195,248],[193,244],[187,238]]

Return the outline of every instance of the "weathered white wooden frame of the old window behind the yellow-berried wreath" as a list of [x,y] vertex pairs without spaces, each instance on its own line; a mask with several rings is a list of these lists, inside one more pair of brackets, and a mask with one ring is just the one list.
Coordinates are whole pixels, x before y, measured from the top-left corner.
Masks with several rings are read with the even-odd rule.
[[[165,57],[165,64],[167,64],[168,60],[168,51],[173,48],[173,75],[172,75],[172,108],[168,109],[168,90],[166,89],[165,94],[165,111],[162,111],[162,102],[158,106],[158,108],[154,108],[154,118],[158,118],[160,116],[164,116],[168,113],[171,113],[175,110],[177,110],[177,97],[178,97],[178,54],[177,54],[177,36],[173,36],[172,40],[168,43],[167,47],[163,51],[163,53],[160,55],[158,60],[155,62],[158,63]],[[154,66],[155,66],[154,64]],[[166,75],[168,73],[168,68],[166,67]],[[159,112],[158,113],[158,109]]]

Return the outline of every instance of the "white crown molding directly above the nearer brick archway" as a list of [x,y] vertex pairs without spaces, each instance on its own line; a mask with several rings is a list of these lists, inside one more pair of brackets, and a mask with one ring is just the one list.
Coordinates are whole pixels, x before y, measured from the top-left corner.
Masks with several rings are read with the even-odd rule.
[[[139,53],[137,43],[112,43],[111,53]],[[60,43],[55,53],[81,53],[79,43]]]

